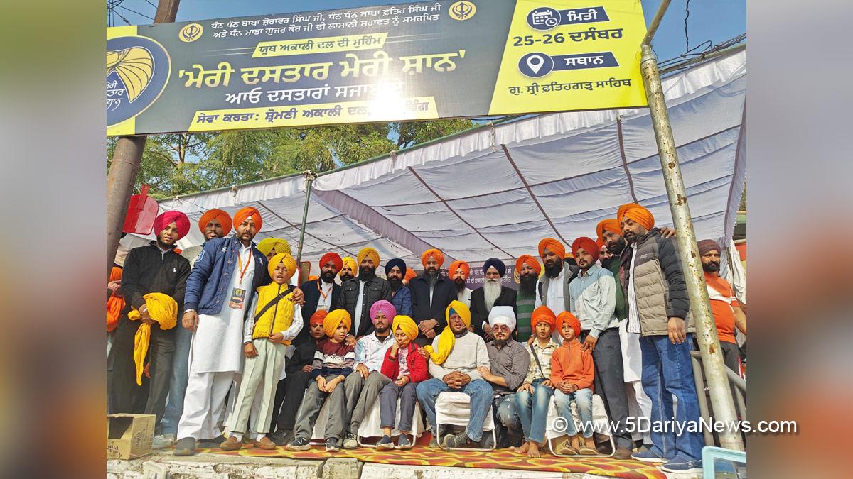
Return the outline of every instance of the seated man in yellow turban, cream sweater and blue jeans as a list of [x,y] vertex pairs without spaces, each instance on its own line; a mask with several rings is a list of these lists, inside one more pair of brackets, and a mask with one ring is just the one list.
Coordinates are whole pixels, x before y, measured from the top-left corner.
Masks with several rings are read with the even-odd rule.
[[[418,384],[418,401],[432,424],[432,442],[437,446],[438,427],[435,422],[435,401],[444,391],[460,391],[471,396],[471,419],[464,432],[444,436],[444,447],[476,447],[483,437],[483,422],[491,407],[491,386],[479,373],[480,366],[490,367],[485,342],[473,332],[471,312],[465,303],[451,301],[445,309],[447,325],[432,345],[424,348],[428,355],[431,379]],[[419,350],[420,352],[420,350]]]

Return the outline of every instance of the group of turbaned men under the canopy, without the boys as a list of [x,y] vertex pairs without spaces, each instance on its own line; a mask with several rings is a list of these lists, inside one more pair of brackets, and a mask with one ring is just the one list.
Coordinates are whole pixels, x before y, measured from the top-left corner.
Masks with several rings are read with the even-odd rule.
[[[223,441],[220,424],[227,398],[240,381],[243,325],[251,315],[248,303],[258,286],[270,283],[270,257],[289,254],[284,240],[254,243],[262,225],[260,213],[251,207],[237,211],[233,221],[225,211],[206,211],[199,222],[204,245],[178,255],[176,242],[188,233],[189,219],[181,212],[166,212],[154,222],[156,240],[130,251],[120,286],[111,283],[107,291],[108,297],[123,297],[126,302],[109,353],[110,412],[155,414],[155,447],[174,444],[176,453],[189,454],[199,445],[215,447]],[[228,236],[232,226],[235,234]],[[377,327],[371,315],[374,303],[384,300],[392,303],[397,315],[410,316],[418,326],[412,342],[428,357],[432,378],[418,384],[416,394],[433,436],[442,432],[435,428],[438,394],[462,391],[472,398],[471,420],[465,431],[444,435],[444,445],[485,445],[483,423],[491,409],[498,430],[495,446],[519,446],[523,431],[514,395],[532,361],[528,343],[533,343],[536,325],[531,316],[545,306],[554,315],[568,311],[580,320],[580,343],[595,361],[595,394],[618,424],[610,431],[615,451],[609,451],[605,441],[600,441],[599,451],[619,459],[665,462],[664,470],[672,472],[693,470],[704,445],[698,433],[676,436],[672,430],[653,430],[643,437],[626,429],[629,416],[653,422],[674,416],[680,421],[699,419],[690,363],[695,329],[676,246],[670,240],[675,233],[655,228],[652,213],[641,205],[623,205],[615,219],[598,224],[595,240],[575,240],[571,255],[559,240],[548,238],[540,241],[538,258],[517,258],[517,291],[502,286],[507,266],[497,258],[483,263],[484,286],[472,291],[467,288],[470,266],[455,261],[444,276],[444,254],[437,249],[424,251],[423,273],[415,277],[402,259],[382,265],[373,248],[364,248],[356,260],[329,252],[320,260],[319,276],[293,288],[305,327],[290,345],[271,424],[258,424],[255,432],[274,430],[270,438],[276,446],[293,439],[294,417],[310,380],[306,365],[314,358],[316,342],[324,337],[322,321],[309,324],[308,319],[318,311],[345,309],[351,317],[345,340],[363,346],[357,349],[359,373],[342,384],[344,409],[336,411],[344,417],[329,419],[339,424],[343,447],[356,447],[357,423],[390,382],[379,367],[369,366],[393,343],[388,340],[393,336],[388,325]],[[262,245],[268,251],[262,252]],[[737,348],[731,344],[735,327],[746,333],[746,315],[731,287],[717,276],[720,246],[706,240],[699,242],[699,250],[713,291],[720,340],[727,344],[722,346],[726,364],[737,369]],[[376,274],[380,267],[386,279]],[[173,298],[176,304],[171,309],[180,320],[154,317],[149,310],[157,293]],[[460,303],[465,308],[452,306]],[[150,328],[148,351],[138,350],[136,342],[143,325]],[[383,331],[378,334],[377,329]],[[368,340],[360,341],[363,338]],[[554,342],[560,343],[559,335],[554,334]],[[148,363],[143,365],[145,358]]]

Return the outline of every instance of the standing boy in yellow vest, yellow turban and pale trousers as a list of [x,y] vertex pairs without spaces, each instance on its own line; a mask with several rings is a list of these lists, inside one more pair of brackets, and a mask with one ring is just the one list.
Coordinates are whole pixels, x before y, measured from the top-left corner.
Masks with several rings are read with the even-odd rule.
[[231,435],[222,443],[223,451],[240,449],[258,385],[260,407],[258,414],[252,417],[249,430],[258,433],[255,447],[266,450],[276,448],[267,433],[270,432],[276,386],[284,369],[286,346],[302,330],[302,309],[293,302],[293,287],[287,285],[296,272],[296,260],[287,253],[279,253],[272,257],[267,269],[272,283],[258,287],[250,309],[254,314],[248,317],[243,327],[246,362],[235,402],[235,415],[232,416],[233,423],[229,424]]

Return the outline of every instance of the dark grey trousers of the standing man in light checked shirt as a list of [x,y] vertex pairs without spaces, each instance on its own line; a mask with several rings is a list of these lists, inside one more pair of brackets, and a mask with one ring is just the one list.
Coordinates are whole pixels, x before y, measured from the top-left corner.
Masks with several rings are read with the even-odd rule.
[[[581,343],[586,337],[586,332],[581,332]],[[601,395],[607,417],[614,424],[618,424],[618,430],[613,434],[616,447],[630,449],[631,435],[625,430],[628,424],[628,396],[625,394],[622,342],[619,340],[618,327],[601,332],[598,343],[595,343],[592,359],[595,363],[595,394]]]

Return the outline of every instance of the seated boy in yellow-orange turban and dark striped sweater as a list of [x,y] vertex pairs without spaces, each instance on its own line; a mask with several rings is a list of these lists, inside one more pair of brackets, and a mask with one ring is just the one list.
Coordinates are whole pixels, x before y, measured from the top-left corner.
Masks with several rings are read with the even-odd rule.
[[326,339],[317,343],[317,352],[311,367],[314,380],[305,391],[302,405],[296,413],[296,430],[293,441],[287,443],[288,451],[307,451],[317,414],[324,401],[329,401],[326,423],[326,452],[339,451],[340,437],[344,434],[346,404],[343,386],[356,362],[355,346],[348,346],[346,335],[352,320],[345,309],[335,309],[322,321]]

